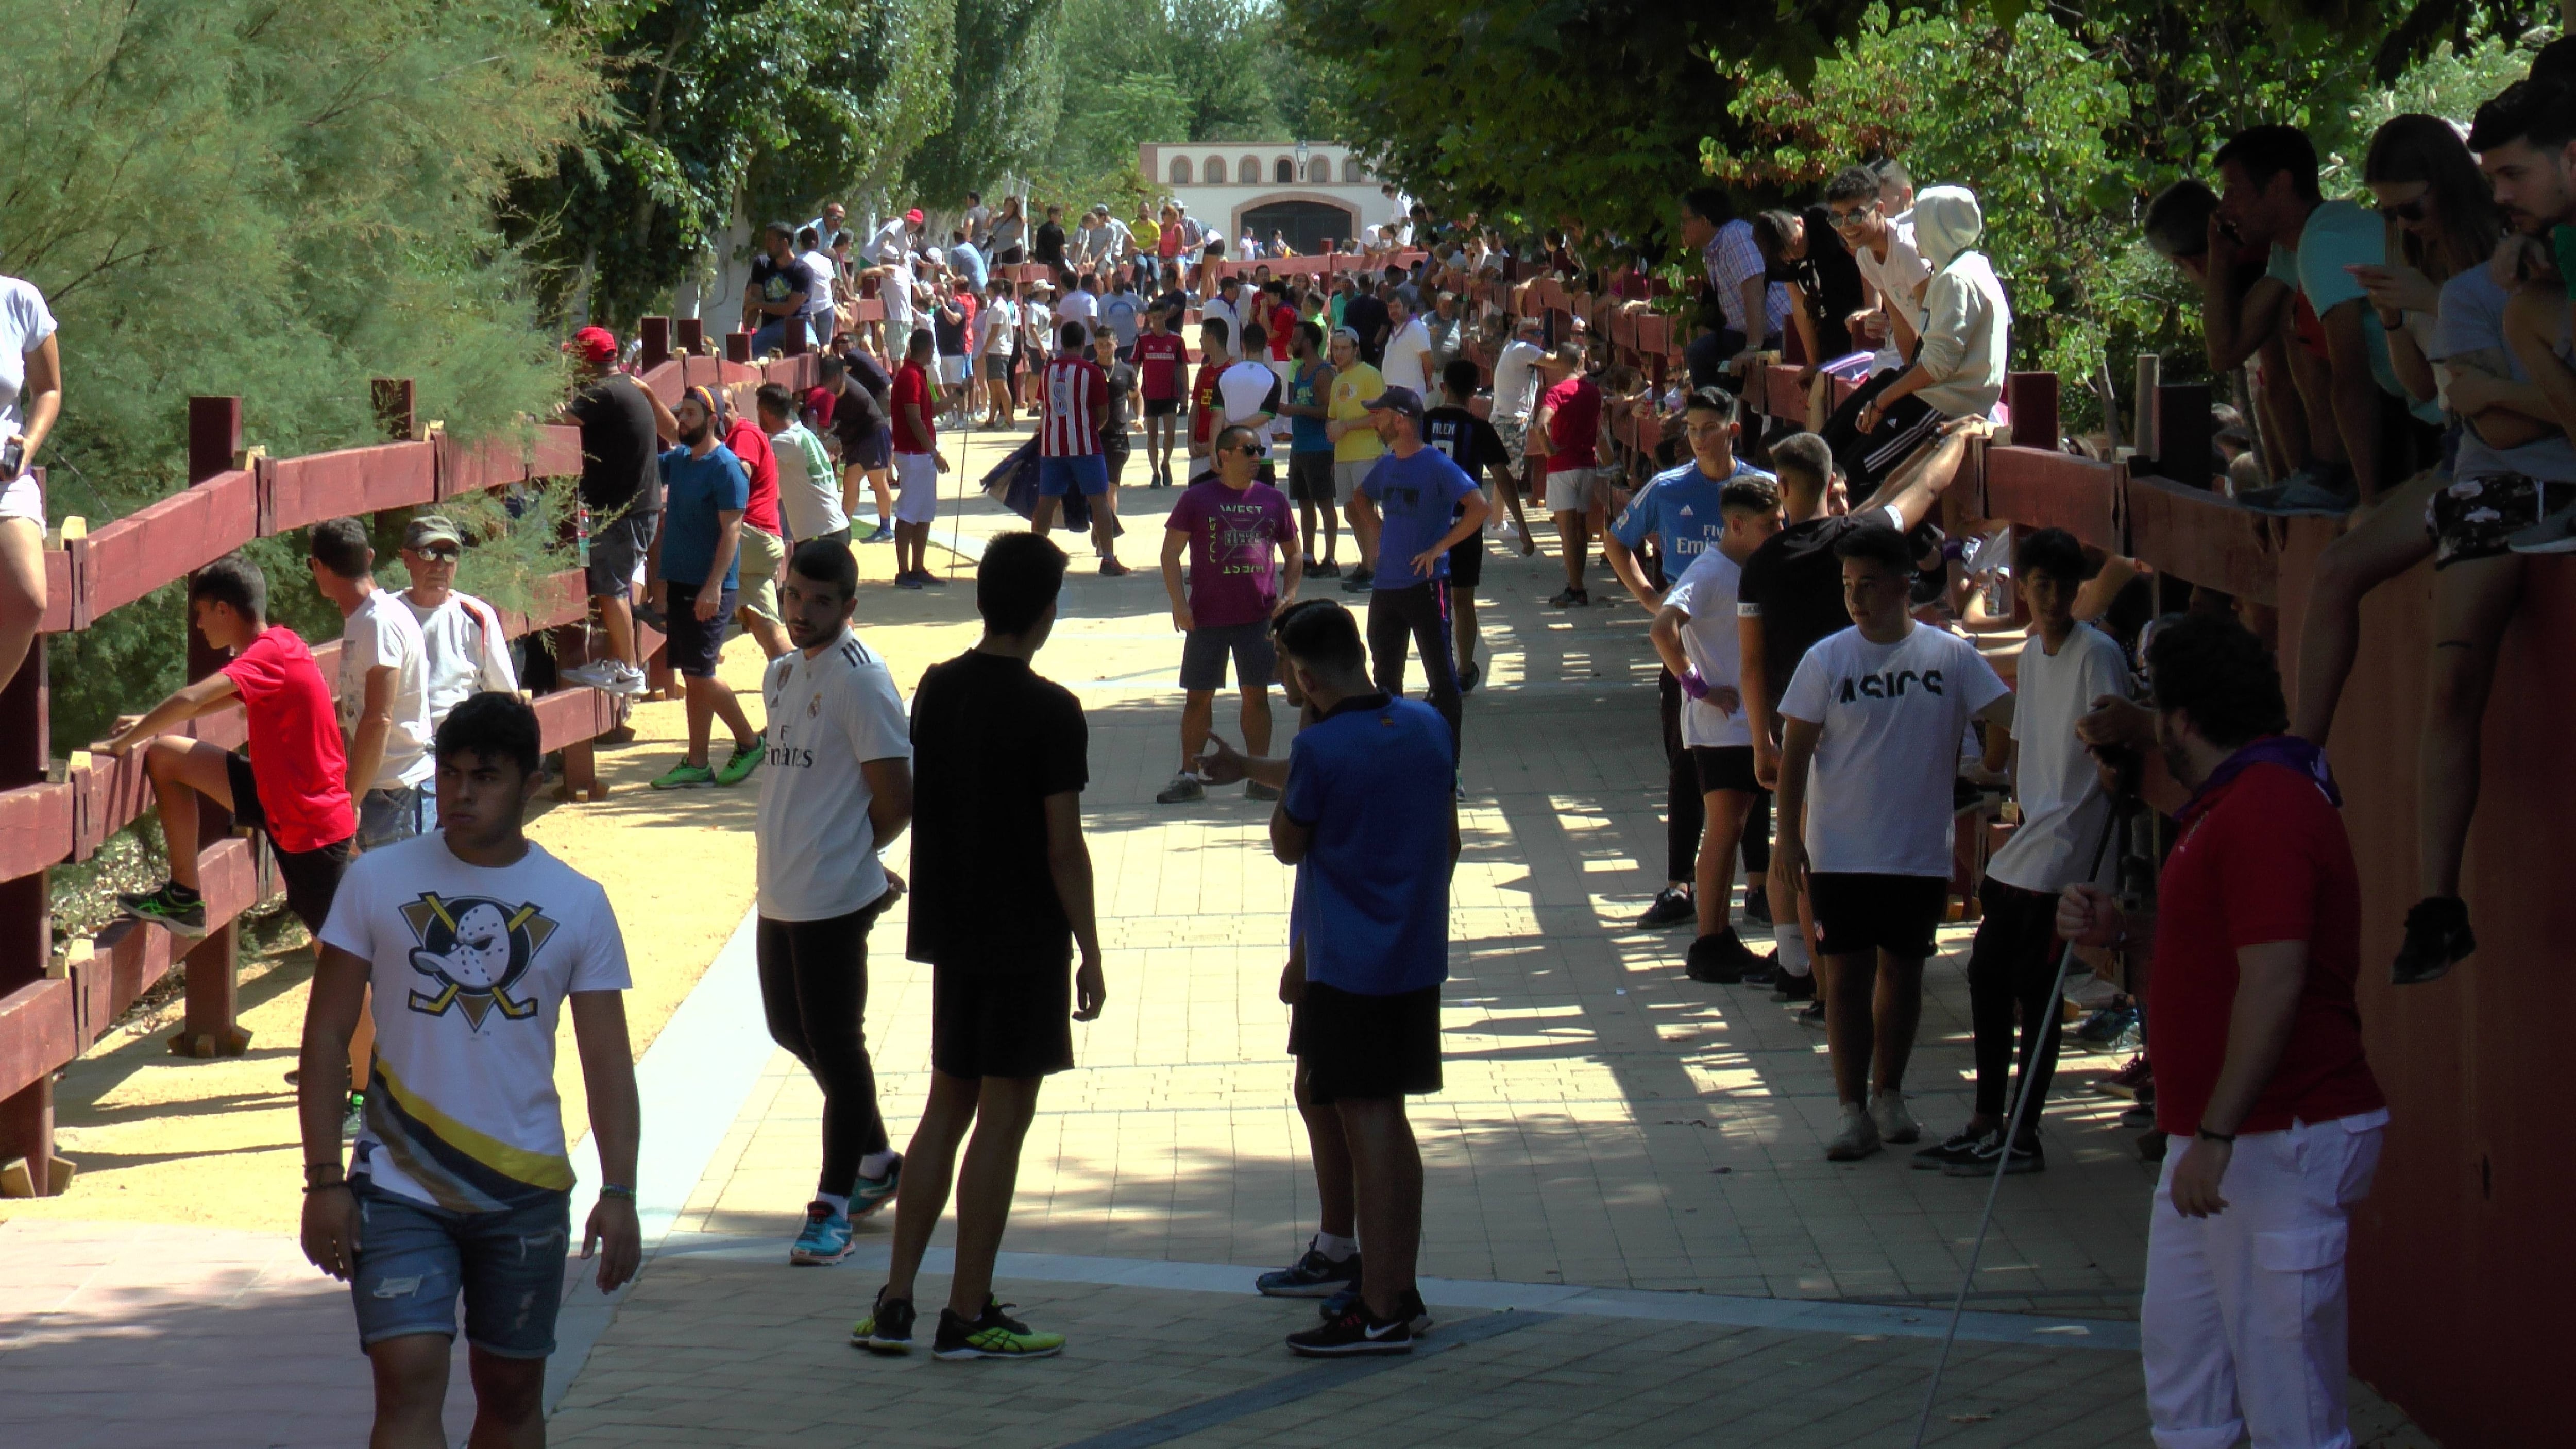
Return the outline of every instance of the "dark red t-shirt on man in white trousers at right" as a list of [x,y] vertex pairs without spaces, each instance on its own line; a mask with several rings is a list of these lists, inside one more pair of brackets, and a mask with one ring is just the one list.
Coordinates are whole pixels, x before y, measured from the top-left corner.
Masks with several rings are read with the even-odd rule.
[[2228,780],[2182,826],[2159,883],[2156,1127],[2190,1140],[2218,1089],[2236,1004],[2236,950],[2308,942],[2308,983],[2290,1040],[2244,1132],[2331,1122],[2388,1104],[2362,1060],[2352,983],[2362,970],[2362,883],[2344,816],[2324,790],[2285,764],[2254,764]]

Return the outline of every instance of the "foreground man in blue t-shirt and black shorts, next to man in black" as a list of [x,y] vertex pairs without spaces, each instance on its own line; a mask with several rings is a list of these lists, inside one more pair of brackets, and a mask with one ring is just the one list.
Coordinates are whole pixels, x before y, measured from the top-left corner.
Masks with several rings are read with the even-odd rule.
[[1440,1091],[1455,749],[1430,708],[1370,687],[1358,620],[1342,605],[1291,605],[1278,654],[1306,708],[1288,759],[1244,759],[1216,741],[1206,767],[1216,780],[1285,782],[1270,849],[1298,870],[1301,939],[1280,978],[1293,1006],[1288,1050],[1316,1179],[1327,1163],[1347,1168],[1334,1176],[1350,1184],[1365,1248],[1360,1292],[1327,1305],[1324,1325],[1291,1333],[1288,1349],[1409,1354],[1430,1315],[1414,1289],[1422,1150],[1404,1096]]

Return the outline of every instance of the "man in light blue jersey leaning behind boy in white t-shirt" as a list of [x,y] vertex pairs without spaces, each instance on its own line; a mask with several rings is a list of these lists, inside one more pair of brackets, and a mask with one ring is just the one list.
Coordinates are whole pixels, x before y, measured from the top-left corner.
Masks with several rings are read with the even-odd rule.
[[[1618,574],[1620,584],[1628,584],[1628,595],[1646,613],[1664,607],[1662,584],[1646,577],[1646,566],[1638,558],[1646,538],[1651,535],[1664,556],[1662,574],[1680,579],[1682,569],[1690,569],[1692,558],[1716,548],[1726,533],[1726,517],[1718,510],[1718,494],[1726,492],[1726,484],[1734,479],[1777,481],[1744,458],[1736,458],[1736,394],[1731,391],[1692,391],[1690,401],[1682,404],[1682,440],[1690,443],[1690,461],[1646,481],[1628,502],[1628,510],[1618,515],[1618,522],[1610,525],[1610,533],[1602,535],[1602,553],[1610,558],[1610,571]],[[1700,772],[1690,762],[1690,749],[1682,746],[1682,682],[1672,677],[1672,669],[1664,669],[1656,677],[1656,690],[1662,692],[1664,762],[1669,767],[1664,795],[1664,888],[1646,906],[1646,914],[1638,916],[1638,929],[1698,921],[1690,883],[1700,860],[1700,831],[1708,824],[1700,806]],[[1765,872],[1770,872],[1770,790],[1754,798],[1754,811],[1744,831],[1744,880],[1762,880]],[[1744,891],[1744,919],[1770,924],[1770,898],[1759,885],[1747,885]]]

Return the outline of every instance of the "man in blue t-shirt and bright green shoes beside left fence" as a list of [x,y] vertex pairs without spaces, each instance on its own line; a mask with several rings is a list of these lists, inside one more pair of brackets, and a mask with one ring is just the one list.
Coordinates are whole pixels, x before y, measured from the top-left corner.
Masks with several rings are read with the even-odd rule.
[[[688,389],[672,417],[680,422],[680,445],[662,453],[662,533],[647,553],[644,579],[670,631],[662,654],[688,682],[688,754],[652,788],[739,785],[760,764],[762,744],[734,690],[716,679],[716,659],[724,654],[724,620],[734,618],[742,510],[752,497],[752,479],[742,458],[716,443],[714,394]],[[721,770],[708,770],[706,739],[716,715],[734,731],[734,754]]]

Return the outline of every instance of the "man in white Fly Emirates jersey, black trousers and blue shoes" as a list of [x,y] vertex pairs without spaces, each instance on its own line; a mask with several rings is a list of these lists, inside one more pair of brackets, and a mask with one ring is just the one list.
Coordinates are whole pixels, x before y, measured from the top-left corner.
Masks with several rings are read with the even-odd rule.
[[770,661],[768,770],[760,775],[760,1004],[770,1037],[822,1089],[822,1179],[791,1264],[850,1256],[850,1220],[894,1202],[902,1156],[886,1143],[868,1066],[868,927],[902,880],[876,852],[912,824],[912,721],[884,659],[850,633],[858,561],[848,543],[796,548],[788,649]]

